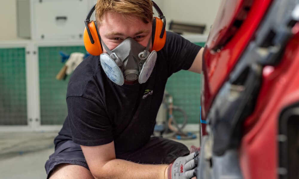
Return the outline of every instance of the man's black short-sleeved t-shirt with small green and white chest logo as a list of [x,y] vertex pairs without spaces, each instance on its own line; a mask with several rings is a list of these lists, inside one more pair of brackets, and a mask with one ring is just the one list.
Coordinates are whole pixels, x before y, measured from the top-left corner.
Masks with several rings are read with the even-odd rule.
[[55,144],[70,139],[83,146],[114,141],[117,154],[139,149],[152,135],[167,78],[181,69],[188,70],[200,48],[167,32],[166,44],[157,52],[147,82],[123,86],[107,78],[100,56],[89,56],[69,80],[68,117]]

